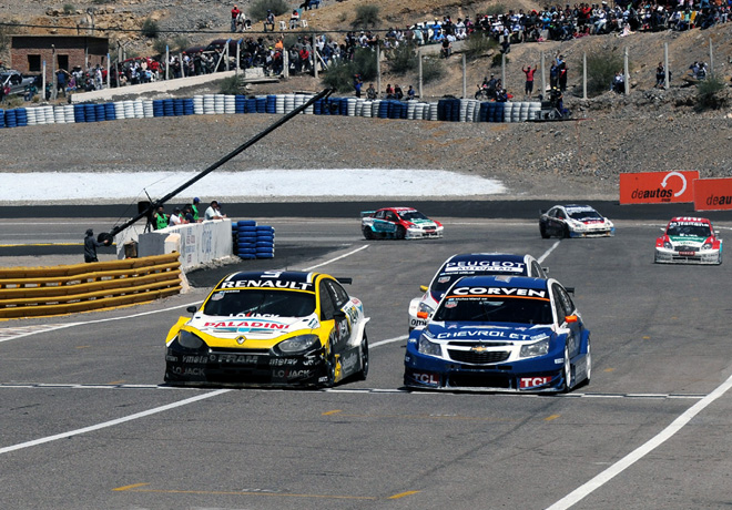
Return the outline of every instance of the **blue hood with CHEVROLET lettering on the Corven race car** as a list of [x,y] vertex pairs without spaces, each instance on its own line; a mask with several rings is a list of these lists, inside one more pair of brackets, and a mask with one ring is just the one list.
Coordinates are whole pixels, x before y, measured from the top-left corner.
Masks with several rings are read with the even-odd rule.
[[430,323],[429,334],[446,341],[536,341],[552,336],[550,325],[496,325],[490,323]]

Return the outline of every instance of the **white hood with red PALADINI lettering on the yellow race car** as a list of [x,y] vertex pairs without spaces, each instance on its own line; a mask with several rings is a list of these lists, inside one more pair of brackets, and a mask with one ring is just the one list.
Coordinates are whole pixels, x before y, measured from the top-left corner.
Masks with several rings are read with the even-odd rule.
[[319,327],[315,314],[307,317],[220,317],[195,315],[186,326],[217,338],[268,339]]

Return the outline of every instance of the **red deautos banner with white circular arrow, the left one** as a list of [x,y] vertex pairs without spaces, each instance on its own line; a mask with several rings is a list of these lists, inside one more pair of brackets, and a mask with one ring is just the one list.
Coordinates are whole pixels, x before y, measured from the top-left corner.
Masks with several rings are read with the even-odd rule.
[[621,204],[694,202],[692,183],[699,172],[640,172],[620,174]]

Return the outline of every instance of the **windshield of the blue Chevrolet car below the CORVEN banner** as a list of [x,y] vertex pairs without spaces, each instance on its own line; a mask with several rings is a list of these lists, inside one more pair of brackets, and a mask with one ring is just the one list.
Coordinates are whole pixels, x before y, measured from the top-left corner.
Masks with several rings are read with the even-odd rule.
[[434,320],[466,323],[551,324],[548,299],[507,296],[449,297],[435,313]]

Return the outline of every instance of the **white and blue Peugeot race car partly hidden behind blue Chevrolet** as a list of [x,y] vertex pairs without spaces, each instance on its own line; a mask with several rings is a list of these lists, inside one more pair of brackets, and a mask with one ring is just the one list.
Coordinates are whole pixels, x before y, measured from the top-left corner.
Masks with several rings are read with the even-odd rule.
[[425,326],[445,292],[456,279],[471,275],[515,275],[546,278],[547,269],[531,255],[508,253],[464,253],[453,255],[435,273],[428,287],[420,286],[421,297],[409,303],[409,332]]

